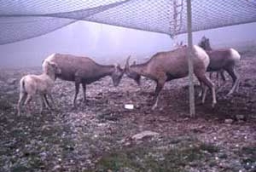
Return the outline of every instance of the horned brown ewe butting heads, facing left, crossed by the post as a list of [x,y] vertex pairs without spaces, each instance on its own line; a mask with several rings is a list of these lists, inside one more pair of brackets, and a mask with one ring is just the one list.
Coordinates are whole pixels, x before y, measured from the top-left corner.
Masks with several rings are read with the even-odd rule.
[[[149,77],[156,82],[154,95],[154,109],[158,104],[158,97],[160,90],[167,81],[186,77],[189,74],[188,66],[188,48],[181,47],[168,52],[160,52],[154,54],[146,63],[129,66],[129,59],[126,60],[125,73],[128,77],[134,79],[139,83],[140,76]],[[212,90],[212,106],[217,101],[215,97],[214,84],[206,77],[207,66],[209,64],[209,57],[207,53],[198,46],[193,46],[193,64],[195,76],[201,83],[205,83]],[[206,95],[207,88],[204,95]],[[205,96],[202,102],[204,103]]]

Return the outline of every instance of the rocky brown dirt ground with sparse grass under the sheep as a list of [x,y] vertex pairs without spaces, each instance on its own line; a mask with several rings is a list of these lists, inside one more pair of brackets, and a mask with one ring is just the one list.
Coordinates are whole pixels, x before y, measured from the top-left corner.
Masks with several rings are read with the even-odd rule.
[[[127,77],[117,88],[109,77],[88,85],[86,104],[80,89],[76,109],[74,84],[56,80],[57,111],[39,114],[36,97],[32,114],[17,117],[20,77],[41,69],[1,69],[0,171],[256,171],[255,50],[241,56],[239,92],[224,96],[226,74],[215,108],[210,94],[205,105],[195,98],[196,118],[188,78],[166,83],[152,111],[154,82],[143,78],[139,87]],[[155,133],[134,139],[143,131]]]

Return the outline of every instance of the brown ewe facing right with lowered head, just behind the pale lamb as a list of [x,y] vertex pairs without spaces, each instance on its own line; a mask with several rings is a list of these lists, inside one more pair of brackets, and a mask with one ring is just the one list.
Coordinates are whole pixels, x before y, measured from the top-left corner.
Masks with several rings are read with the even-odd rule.
[[[71,54],[51,54],[44,61],[54,62],[61,68],[61,74],[56,74],[56,77],[75,83],[74,106],[76,106],[80,83],[83,86],[85,102],[86,84],[93,83],[102,77],[111,76],[113,85],[118,86],[124,74],[124,70],[119,65],[103,66],[88,57],[74,56]],[[43,70],[46,66],[47,63],[43,63]]]

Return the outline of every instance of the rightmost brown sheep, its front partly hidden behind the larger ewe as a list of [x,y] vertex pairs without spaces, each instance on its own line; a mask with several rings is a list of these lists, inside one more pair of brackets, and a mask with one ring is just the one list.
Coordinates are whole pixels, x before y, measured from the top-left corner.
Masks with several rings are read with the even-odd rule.
[[228,72],[233,79],[233,86],[227,95],[231,95],[239,88],[239,77],[236,74],[236,65],[241,60],[241,55],[235,49],[212,49],[207,37],[202,37],[199,43],[202,49],[205,49],[210,57],[210,64],[207,72],[220,72],[225,81],[224,71]]

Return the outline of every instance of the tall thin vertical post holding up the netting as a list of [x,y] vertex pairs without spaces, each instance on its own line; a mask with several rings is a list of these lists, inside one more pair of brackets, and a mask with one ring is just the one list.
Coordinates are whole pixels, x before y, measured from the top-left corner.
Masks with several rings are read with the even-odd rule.
[[192,52],[192,17],[191,17],[191,0],[187,0],[187,28],[188,28],[188,60],[189,60],[189,115],[190,117],[195,116],[195,90],[193,84],[193,52]]

